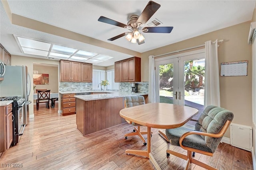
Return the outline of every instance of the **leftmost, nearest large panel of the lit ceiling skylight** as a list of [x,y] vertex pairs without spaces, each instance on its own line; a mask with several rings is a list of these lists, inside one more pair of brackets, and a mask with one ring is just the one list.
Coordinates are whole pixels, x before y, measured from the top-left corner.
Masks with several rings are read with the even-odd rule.
[[34,48],[37,50],[49,51],[51,44],[28,38],[17,37],[21,47]]

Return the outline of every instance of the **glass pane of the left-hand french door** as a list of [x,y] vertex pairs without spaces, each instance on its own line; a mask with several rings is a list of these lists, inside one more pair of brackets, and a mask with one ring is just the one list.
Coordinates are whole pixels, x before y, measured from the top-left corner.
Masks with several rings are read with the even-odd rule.
[[159,102],[173,104],[173,63],[159,65]]

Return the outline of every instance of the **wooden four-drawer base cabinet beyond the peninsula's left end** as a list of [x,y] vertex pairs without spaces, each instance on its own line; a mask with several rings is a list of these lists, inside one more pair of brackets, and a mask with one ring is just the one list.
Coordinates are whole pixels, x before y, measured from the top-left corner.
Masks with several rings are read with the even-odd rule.
[[76,98],[74,97],[75,95],[75,93],[60,95],[60,103],[63,116],[76,113]]

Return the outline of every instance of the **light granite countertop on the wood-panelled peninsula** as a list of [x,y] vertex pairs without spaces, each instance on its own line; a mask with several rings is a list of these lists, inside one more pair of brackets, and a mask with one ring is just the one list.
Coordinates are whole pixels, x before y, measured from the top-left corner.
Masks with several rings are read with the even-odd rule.
[[[110,91],[100,91],[100,92],[110,92]],[[79,98],[84,101],[89,100],[101,100],[108,98],[120,98],[126,96],[139,96],[139,95],[147,95],[148,93],[132,93],[132,92],[111,92],[106,94],[90,94],[90,95],[76,95],[74,97]]]

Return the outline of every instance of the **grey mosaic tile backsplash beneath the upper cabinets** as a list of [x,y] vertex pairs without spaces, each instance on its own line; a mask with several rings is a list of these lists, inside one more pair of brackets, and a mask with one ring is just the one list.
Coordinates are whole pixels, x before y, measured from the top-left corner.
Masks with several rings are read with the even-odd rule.
[[[148,82],[132,82],[138,83],[138,92],[148,93]],[[87,91],[92,90],[92,83],[84,82],[59,82],[59,91]],[[132,91],[131,82],[119,83],[119,90],[129,92]]]

